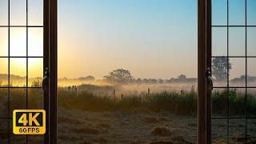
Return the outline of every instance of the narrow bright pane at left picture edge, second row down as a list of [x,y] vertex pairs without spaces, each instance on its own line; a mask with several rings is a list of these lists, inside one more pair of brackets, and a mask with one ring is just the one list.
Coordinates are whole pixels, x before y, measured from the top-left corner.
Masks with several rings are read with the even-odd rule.
[[8,28],[0,27],[0,56],[8,56]]

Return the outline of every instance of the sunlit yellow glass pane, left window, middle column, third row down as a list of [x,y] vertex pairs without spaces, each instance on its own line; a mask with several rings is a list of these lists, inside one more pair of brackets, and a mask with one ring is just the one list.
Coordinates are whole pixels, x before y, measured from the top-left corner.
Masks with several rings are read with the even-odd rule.
[[26,58],[10,58],[10,86],[26,86]]

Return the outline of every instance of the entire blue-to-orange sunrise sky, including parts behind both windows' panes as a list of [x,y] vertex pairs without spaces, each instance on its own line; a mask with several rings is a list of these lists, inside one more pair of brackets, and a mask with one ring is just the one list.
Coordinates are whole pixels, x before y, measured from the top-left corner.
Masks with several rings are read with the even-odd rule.
[[[0,1],[0,25],[8,24],[8,0]],[[42,25],[42,0],[28,0],[28,23]],[[229,0],[229,24],[245,25],[245,1]],[[256,25],[256,1],[247,0],[247,25]],[[226,25],[226,0],[213,0],[213,25]],[[58,0],[58,77],[130,70],[135,78],[197,77],[197,0]],[[26,25],[26,0],[10,0],[10,25]],[[214,56],[245,56],[246,29],[213,28]],[[28,54],[42,56],[42,28],[29,28]],[[0,28],[0,55],[8,54],[8,29]],[[247,28],[247,55],[256,55],[256,28]],[[10,55],[26,56],[26,28],[10,28]],[[0,58],[0,74],[7,70]],[[42,58],[29,60],[30,77],[42,76]],[[246,59],[231,58],[230,78],[245,74]],[[255,58],[248,74],[256,75]],[[26,58],[10,61],[26,75]]]

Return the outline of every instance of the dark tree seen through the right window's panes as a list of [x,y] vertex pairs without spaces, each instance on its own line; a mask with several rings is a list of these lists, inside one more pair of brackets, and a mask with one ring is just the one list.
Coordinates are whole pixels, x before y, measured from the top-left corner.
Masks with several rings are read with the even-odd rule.
[[212,61],[212,74],[216,81],[226,80],[227,70],[231,70],[228,58],[214,58]]

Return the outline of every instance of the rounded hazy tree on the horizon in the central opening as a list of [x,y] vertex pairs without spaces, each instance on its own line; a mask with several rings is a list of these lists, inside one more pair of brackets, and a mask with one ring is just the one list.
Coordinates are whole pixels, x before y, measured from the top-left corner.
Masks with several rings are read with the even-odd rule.
[[133,79],[129,70],[117,69],[104,76],[106,82],[128,83]]

